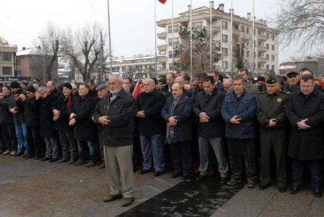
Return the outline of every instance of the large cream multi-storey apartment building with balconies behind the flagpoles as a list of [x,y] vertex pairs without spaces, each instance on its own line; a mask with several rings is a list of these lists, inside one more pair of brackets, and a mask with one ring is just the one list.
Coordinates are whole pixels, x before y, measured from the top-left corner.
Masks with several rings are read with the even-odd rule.
[[[245,45],[245,60],[248,63],[248,68],[252,70],[253,57],[255,58],[255,77],[258,73],[262,74],[267,69],[272,69],[278,73],[278,31],[267,26],[263,19],[257,20],[256,17],[251,17],[251,13],[247,13],[246,17],[240,17],[234,14],[234,10],[225,12],[224,4],[220,4],[217,9],[212,7],[212,24],[210,23],[210,8],[201,7],[192,10],[192,28],[201,28],[206,26],[208,31],[212,31],[214,41],[221,42],[220,61],[213,63],[213,68],[218,68],[225,73],[231,72],[231,44],[233,49],[237,43],[244,42]],[[174,18],[174,45],[181,43],[179,35],[180,26],[190,28],[190,10],[180,13],[179,17]],[[231,27],[231,13],[233,14],[233,26]],[[253,30],[252,19],[255,21],[255,53],[252,54],[253,47]],[[163,32],[157,34],[159,39],[165,40],[165,44],[160,45],[157,49],[161,52],[166,52],[165,58],[160,62],[166,64],[166,72],[172,71],[172,19],[164,19],[157,21],[157,26],[164,28]],[[231,28],[233,29],[231,36]],[[234,52],[233,52],[234,53]],[[171,53],[172,54],[172,53]],[[235,58],[233,58],[235,62]],[[177,61],[177,58],[175,58]],[[236,69],[234,68],[234,71]]]

